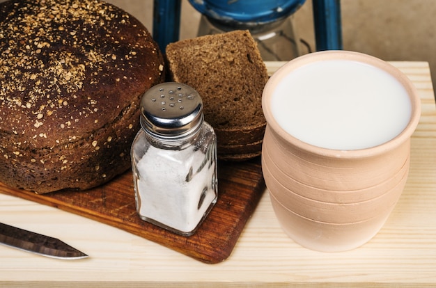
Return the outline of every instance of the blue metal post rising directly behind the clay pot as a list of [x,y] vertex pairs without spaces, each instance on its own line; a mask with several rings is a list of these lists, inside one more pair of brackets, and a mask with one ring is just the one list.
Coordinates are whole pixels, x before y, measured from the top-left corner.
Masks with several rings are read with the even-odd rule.
[[341,50],[341,1],[312,0],[316,50]]

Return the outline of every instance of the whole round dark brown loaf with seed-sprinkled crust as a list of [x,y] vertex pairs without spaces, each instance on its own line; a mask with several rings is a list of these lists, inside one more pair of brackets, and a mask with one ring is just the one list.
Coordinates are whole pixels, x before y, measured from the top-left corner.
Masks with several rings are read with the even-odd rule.
[[0,3],[0,181],[83,190],[130,169],[141,95],[163,71],[146,28],[108,3]]

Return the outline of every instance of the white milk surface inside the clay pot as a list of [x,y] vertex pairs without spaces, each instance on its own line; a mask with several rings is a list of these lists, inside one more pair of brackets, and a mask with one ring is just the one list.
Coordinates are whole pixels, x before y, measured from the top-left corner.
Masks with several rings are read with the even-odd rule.
[[271,111],[288,134],[333,150],[358,150],[395,138],[407,126],[411,103],[398,80],[372,65],[327,60],[281,79]]

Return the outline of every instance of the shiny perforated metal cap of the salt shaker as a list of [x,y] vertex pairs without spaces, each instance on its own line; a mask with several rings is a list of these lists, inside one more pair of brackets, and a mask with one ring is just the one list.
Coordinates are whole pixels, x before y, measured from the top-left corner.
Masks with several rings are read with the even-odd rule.
[[141,99],[141,127],[154,136],[186,136],[203,124],[203,102],[198,92],[185,84],[161,83]]

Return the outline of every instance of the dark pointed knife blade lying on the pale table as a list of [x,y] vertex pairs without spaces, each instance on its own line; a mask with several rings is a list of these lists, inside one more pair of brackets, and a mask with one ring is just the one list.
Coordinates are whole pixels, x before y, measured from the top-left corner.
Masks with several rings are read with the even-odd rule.
[[0,243],[58,259],[81,259],[88,255],[72,248],[63,241],[0,223]]

